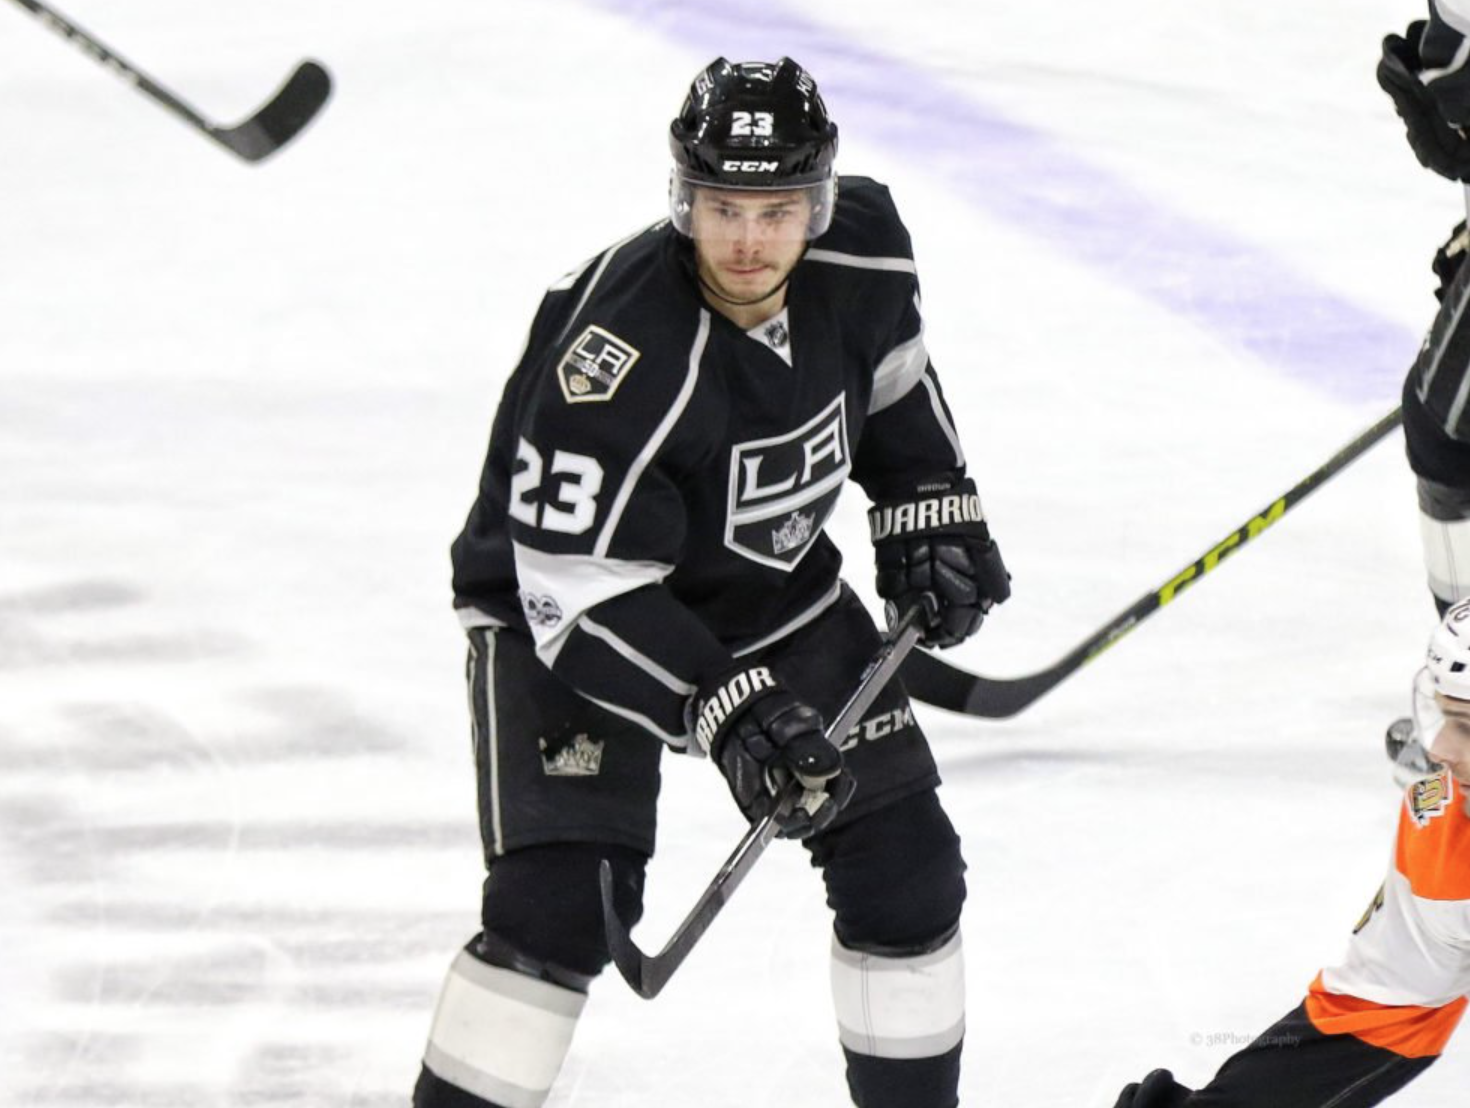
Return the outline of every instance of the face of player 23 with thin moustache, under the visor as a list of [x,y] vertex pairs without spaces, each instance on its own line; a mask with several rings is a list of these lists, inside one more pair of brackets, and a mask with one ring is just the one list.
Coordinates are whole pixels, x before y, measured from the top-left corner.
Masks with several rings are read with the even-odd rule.
[[697,188],[689,219],[700,276],[729,300],[761,300],[801,260],[811,197]]

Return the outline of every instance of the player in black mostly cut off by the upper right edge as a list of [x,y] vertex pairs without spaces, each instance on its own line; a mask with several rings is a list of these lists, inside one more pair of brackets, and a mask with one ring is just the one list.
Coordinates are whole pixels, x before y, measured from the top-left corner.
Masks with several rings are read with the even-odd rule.
[[[1430,0],[1429,19],[1383,40],[1379,84],[1419,160],[1470,184],[1470,0]],[[1470,270],[1461,223],[1435,260],[1439,313],[1404,382],[1404,434],[1419,478],[1429,588],[1441,614],[1470,597]]]

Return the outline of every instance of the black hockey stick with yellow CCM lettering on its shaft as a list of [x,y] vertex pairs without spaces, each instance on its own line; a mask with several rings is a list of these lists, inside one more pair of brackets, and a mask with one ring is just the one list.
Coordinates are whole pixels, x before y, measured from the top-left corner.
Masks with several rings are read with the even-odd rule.
[[928,651],[914,651],[900,670],[904,688],[914,699],[944,708],[945,711],[982,716],[985,719],[1014,716],[1051,692],[1051,689],[1097,658],[1161,607],[1175,601],[1180,592],[1200,580],[1205,573],[1210,573],[1230,554],[1272,526],[1292,507],[1324,485],[1329,478],[1388,435],[1402,419],[1402,409],[1389,411],[1383,419],[1333,454],[1324,466],[1308,473],[1295,486],[1267,504],[1258,514],[1251,516],[1251,519],[1220,539],[1220,542],[1216,542],[1157,589],[1145,592],[1129,604],[1055,664],[1022,677],[985,677],[951,666],[948,661],[936,658]]

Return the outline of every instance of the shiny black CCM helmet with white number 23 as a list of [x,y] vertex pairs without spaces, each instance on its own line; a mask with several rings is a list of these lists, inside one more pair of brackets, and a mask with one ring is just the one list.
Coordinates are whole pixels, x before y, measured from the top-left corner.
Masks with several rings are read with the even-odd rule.
[[675,226],[689,234],[692,190],[810,190],[808,237],[832,222],[836,123],[811,75],[789,57],[776,63],[714,59],[694,78],[669,125]]

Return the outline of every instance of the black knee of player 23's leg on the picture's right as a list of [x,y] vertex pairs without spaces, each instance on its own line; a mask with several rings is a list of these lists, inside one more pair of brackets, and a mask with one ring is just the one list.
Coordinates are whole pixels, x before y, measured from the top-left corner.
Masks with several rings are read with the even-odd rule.
[[960,924],[960,836],[932,789],[810,841],[847,949],[920,954]]

